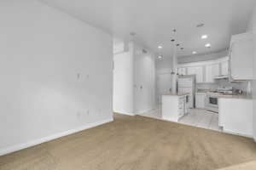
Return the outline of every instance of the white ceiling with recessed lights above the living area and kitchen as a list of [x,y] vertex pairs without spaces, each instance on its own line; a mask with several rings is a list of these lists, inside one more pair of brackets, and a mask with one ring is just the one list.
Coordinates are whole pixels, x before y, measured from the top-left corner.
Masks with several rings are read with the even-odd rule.
[[[230,36],[246,31],[255,0],[43,0],[51,6],[112,33],[135,39],[155,53],[172,55],[171,39],[184,50],[178,56],[228,48]],[[197,28],[196,25],[205,26]],[[172,29],[177,32],[173,33]],[[130,32],[136,32],[135,37]],[[201,35],[207,34],[206,40]],[[210,42],[212,48],[204,45]],[[163,46],[159,50],[158,45]]]

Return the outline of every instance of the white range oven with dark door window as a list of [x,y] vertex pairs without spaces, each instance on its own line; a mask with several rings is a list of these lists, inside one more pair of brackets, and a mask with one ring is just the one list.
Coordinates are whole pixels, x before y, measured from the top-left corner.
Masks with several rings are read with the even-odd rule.
[[214,111],[218,113],[218,93],[207,93],[206,109],[207,111]]

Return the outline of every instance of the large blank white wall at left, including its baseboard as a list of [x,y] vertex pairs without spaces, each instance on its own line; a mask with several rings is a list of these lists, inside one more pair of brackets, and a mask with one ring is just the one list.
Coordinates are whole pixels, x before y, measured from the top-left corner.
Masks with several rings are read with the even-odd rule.
[[0,155],[113,120],[112,37],[36,0],[0,11]]

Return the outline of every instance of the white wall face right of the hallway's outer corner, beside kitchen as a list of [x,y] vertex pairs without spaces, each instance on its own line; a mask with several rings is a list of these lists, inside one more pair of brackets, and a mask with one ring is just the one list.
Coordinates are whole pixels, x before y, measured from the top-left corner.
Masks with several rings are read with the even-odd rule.
[[134,53],[134,109],[137,114],[155,109],[155,56],[135,44]]

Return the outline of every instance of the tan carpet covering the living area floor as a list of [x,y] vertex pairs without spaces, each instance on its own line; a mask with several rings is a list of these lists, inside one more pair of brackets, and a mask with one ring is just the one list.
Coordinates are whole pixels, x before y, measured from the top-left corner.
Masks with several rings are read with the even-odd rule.
[[1,170],[213,170],[256,160],[247,139],[143,116],[0,157]]

